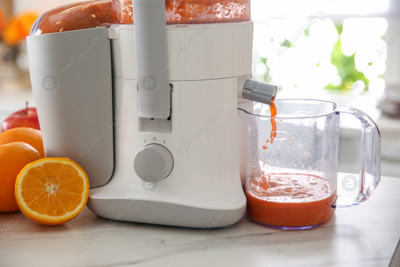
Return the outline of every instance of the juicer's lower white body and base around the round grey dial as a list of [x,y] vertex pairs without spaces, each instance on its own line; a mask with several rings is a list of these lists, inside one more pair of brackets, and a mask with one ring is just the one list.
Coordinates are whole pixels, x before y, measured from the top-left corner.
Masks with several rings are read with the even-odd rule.
[[[218,226],[236,223],[246,208],[239,176],[236,78],[174,82],[172,132],[138,130],[136,86],[135,80],[113,78],[114,112],[124,113],[114,128],[116,165],[107,185],[90,190],[89,209],[110,219],[123,210],[132,221],[184,227],[205,227],[223,211],[226,217]],[[166,147],[174,158],[170,175],[151,185],[154,191],[146,191],[133,167],[136,152],[149,143]],[[126,201],[105,204],[113,199]]]

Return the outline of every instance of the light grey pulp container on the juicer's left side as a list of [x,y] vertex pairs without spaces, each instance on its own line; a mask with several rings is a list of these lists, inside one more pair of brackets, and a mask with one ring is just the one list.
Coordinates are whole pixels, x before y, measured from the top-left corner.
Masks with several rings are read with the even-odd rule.
[[46,157],[68,157],[105,185],[114,168],[107,28],[27,36],[30,80]]

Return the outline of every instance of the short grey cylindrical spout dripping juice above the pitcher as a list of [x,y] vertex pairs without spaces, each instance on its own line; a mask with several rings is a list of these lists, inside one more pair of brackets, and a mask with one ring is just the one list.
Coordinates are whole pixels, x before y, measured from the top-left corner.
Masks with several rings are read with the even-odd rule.
[[240,97],[270,105],[271,99],[276,96],[276,89],[276,85],[247,79],[246,82],[244,82]]

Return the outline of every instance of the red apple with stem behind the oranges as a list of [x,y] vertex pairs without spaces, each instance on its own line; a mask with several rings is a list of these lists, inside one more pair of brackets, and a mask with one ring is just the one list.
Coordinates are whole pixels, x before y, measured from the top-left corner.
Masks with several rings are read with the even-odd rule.
[[28,102],[26,102],[24,109],[12,113],[3,121],[1,131],[4,132],[17,127],[30,127],[40,130],[36,108],[28,108]]

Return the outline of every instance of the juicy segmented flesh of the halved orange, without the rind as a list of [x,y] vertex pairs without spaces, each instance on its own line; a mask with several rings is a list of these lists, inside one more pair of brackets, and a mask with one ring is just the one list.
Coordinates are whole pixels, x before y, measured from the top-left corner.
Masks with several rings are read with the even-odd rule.
[[32,211],[61,216],[80,205],[84,185],[72,166],[49,162],[28,171],[21,184],[21,194]]

